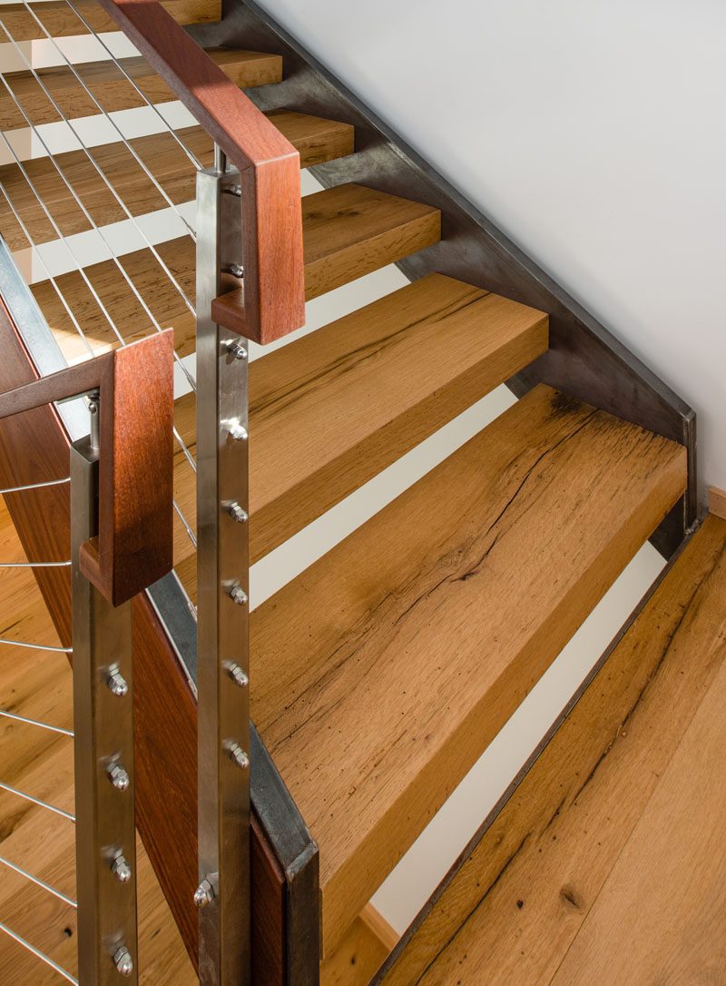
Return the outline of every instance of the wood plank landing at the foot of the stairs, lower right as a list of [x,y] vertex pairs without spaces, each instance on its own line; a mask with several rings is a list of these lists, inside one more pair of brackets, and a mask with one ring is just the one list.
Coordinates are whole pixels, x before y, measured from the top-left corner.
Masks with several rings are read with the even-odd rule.
[[522,984],[692,982],[716,967],[724,598],[726,523],[709,517],[403,940],[386,986],[482,982],[486,969]]

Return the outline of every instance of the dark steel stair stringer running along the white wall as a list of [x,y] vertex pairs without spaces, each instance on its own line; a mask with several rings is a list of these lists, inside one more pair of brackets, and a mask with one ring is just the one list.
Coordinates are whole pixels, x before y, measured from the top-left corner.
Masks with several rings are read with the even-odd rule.
[[284,57],[283,82],[247,91],[257,106],[356,127],[355,154],[310,169],[325,187],[357,181],[441,210],[441,243],[401,261],[406,276],[437,271],[549,314],[550,349],[507,382],[517,396],[549,384],[689,448],[688,495],[653,537],[670,555],[696,516],[693,409],[256,3],[224,0],[223,12],[221,24],[187,30],[205,45]]

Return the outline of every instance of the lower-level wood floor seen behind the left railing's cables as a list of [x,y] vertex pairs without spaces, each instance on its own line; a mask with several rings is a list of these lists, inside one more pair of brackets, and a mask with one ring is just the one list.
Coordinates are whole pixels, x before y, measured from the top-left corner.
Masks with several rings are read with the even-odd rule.
[[[0,498],[0,561],[23,559]],[[0,637],[57,645],[27,570],[0,570]],[[0,709],[73,728],[71,669],[62,654],[0,645]],[[0,781],[73,812],[73,740],[0,717]],[[197,979],[149,860],[139,843],[140,981],[186,986]],[[0,792],[0,856],[75,898],[73,823]],[[76,974],[76,912],[0,863],[0,923]],[[0,932],[3,986],[65,982]]]

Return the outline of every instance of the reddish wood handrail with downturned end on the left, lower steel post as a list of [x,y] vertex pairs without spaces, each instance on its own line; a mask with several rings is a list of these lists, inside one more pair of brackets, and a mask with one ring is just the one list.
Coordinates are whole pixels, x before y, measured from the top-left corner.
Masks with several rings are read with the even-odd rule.
[[99,535],[84,575],[113,605],[172,564],[173,330],[0,393],[0,418],[99,391]]

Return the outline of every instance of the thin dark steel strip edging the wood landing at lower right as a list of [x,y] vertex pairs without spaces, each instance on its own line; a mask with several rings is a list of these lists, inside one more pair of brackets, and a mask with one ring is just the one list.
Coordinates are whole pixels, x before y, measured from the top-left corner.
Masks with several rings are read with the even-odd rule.
[[673,566],[676,564],[678,559],[685,551],[686,547],[688,546],[688,544],[690,543],[693,537],[693,534],[700,527],[700,524],[701,524],[701,519],[696,520],[693,523],[693,526],[687,531],[686,536],[682,538],[680,545],[673,553],[671,558],[668,560],[668,562],[664,565],[663,569],[658,573],[658,576],[655,578],[655,580],[649,587],[648,591],[645,593],[642,599],[640,599],[640,601],[637,603],[635,608],[629,614],[627,620],[620,628],[618,633],[615,635],[613,640],[610,642],[606,650],[603,652],[600,658],[598,658],[598,660],[595,662],[593,667],[588,671],[588,673],[586,674],[580,685],[577,687],[575,692],[572,694],[571,698],[567,701],[560,715],[557,717],[557,719],[552,724],[550,729],[544,735],[542,740],[539,741],[537,746],[535,746],[535,748],[532,750],[530,755],[527,757],[525,763],[514,775],[510,784],[507,786],[504,793],[496,802],[495,807],[489,812],[489,814],[484,819],[482,824],[479,826],[477,831],[474,833],[472,838],[466,844],[466,846],[461,851],[461,853],[457,856],[456,860],[451,865],[450,869],[446,873],[443,880],[440,881],[440,883],[436,886],[435,890],[431,893],[427,902],[424,904],[424,906],[416,915],[412,923],[406,929],[406,931],[402,935],[396,947],[393,949],[393,951],[390,952],[388,957],[385,959],[383,964],[380,966],[378,971],[370,980],[368,986],[377,986],[378,983],[382,982],[385,976],[387,975],[387,973],[390,972],[391,968],[395,965],[401,953],[406,950],[407,945],[416,935],[419,928],[421,928],[424,921],[426,921],[430,912],[435,907],[437,901],[443,896],[444,892],[451,884],[451,882],[454,880],[456,875],[459,873],[461,868],[464,866],[466,861],[474,853],[479,843],[482,841],[482,839],[487,834],[489,829],[495,823],[496,818],[501,814],[502,810],[504,810],[509,800],[516,793],[517,788],[520,786],[520,784],[525,779],[525,777],[530,772],[530,770],[534,767],[534,765],[539,760],[540,756],[544,753],[545,749],[550,744],[550,742],[555,738],[555,735],[560,730],[564,721],[567,719],[567,717],[572,712],[574,707],[577,705],[579,700],[582,698],[584,693],[590,687],[594,679],[597,677],[598,673],[607,664],[608,659],[615,651],[615,649],[618,647],[618,645],[621,643],[621,641],[627,634],[627,631],[630,629],[630,627],[635,622],[635,620],[640,615],[640,613],[645,608],[645,606],[650,601],[650,599],[652,599],[652,597],[655,595],[656,591],[658,590],[663,580],[666,578],[668,573],[671,571]]

